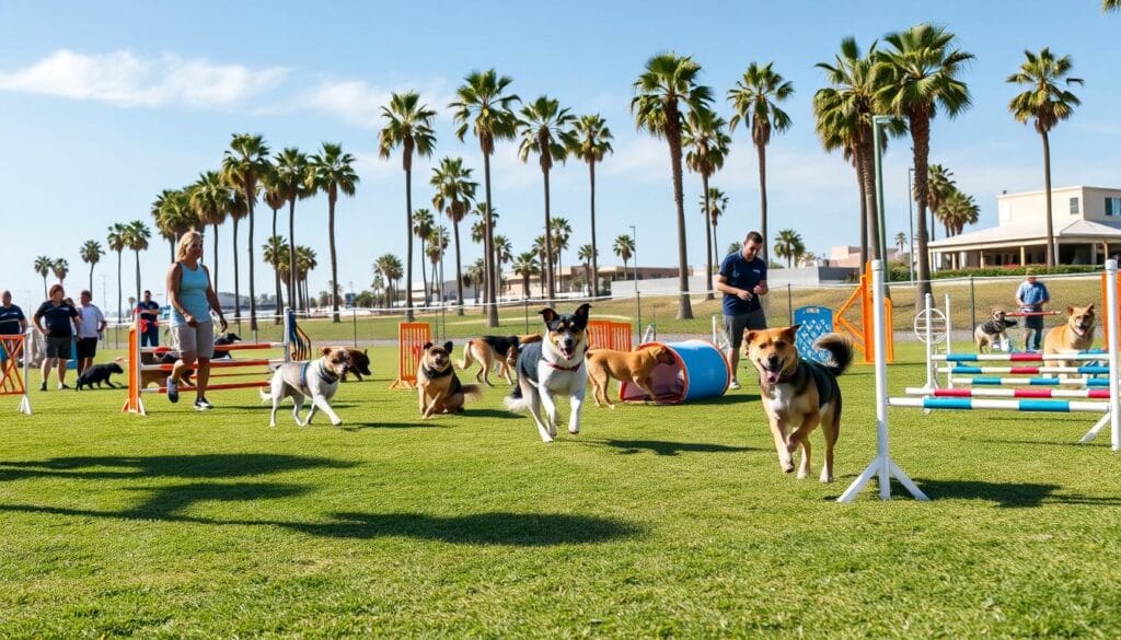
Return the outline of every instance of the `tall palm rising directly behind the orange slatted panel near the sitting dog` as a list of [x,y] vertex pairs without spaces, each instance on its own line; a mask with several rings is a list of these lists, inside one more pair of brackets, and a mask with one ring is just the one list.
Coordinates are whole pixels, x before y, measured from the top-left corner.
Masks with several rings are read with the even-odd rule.
[[[436,133],[432,129],[436,112],[420,104],[420,95],[415,91],[393,93],[389,106],[381,108],[386,128],[378,136],[378,154],[389,158],[396,147],[401,148],[401,168],[405,169],[405,318],[413,322],[413,154],[425,158],[436,148]],[[424,236],[421,236],[423,239]],[[421,269],[421,275],[424,269]],[[428,285],[425,284],[425,303],[428,300]]]

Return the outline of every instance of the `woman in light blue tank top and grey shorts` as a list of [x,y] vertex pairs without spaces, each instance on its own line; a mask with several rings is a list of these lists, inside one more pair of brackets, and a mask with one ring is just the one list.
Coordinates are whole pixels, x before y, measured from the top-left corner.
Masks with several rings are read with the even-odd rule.
[[[186,371],[197,369],[195,375],[195,410],[214,408],[206,400],[210,382],[210,362],[214,356],[214,321],[217,314],[222,331],[226,330],[225,315],[211,286],[210,271],[198,260],[203,257],[203,234],[187,231],[179,236],[175,251],[176,261],[167,270],[167,299],[172,304],[172,333],[179,345],[179,359],[167,378],[167,399],[179,401],[179,379]],[[196,367],[197,363],[197,367]]]

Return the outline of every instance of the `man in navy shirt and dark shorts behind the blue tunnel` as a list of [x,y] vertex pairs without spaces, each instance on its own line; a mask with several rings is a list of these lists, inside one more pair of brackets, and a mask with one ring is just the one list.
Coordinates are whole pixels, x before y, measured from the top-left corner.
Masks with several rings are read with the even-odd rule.
[[763,236],[751,231],[743,239],[743,248],[730,253],[720,263],[716,290],[724,294],[724,331],[728,333],[728,361],[732,365],[732,389],[740,388],[736,372],[740,364],[740,345],[744,330],[767,328],[760,297],[767,295],[767,262],[759,258]]

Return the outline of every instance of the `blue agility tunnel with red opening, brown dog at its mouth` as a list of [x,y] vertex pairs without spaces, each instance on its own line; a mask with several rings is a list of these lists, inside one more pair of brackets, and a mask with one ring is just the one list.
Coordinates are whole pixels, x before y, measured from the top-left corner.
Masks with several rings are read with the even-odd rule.
[[[657,402],[679,405],[689,400],[719,398],[732,381],[732,368],[716,346],[705,340],[685,342],[643,342],[634,351],[649,346],[664,346],[674,354],[673,364],[658,364],[651,373]],[[634,383],[623,380],[619,384],[619,399],[623,402],[642,402],[646,395]]]

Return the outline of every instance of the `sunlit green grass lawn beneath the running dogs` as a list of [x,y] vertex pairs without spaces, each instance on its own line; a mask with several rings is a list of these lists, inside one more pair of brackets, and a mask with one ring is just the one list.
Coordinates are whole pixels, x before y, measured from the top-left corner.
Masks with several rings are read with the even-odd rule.
[[[826,485],[779,472],[751,384],[590,405],[544,445],[504,387],[419,423],[371,354],[343,428],[270,429],[256,391],[2,399],[0,637],[1121,636],[1121,466],[1073,444],[1094,416],[892,409],[934,501],[840,505],[874,455],[869,367]],[[899,354],[896,392],[923,378]]]

